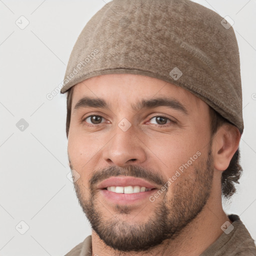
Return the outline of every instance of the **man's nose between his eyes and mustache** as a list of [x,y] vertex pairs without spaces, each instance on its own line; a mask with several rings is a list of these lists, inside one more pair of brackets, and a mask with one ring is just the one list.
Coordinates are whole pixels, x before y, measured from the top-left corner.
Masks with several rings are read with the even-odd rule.
[[123,131],[118,126],[103,151],[104,160],[120,167],[140,164],[146,160],[145,145],[131,126]]

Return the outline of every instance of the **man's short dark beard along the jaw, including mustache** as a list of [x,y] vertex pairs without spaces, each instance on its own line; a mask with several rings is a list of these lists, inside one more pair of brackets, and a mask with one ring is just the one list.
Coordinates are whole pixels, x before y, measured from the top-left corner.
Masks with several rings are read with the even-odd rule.
[[[195,164],[196,161],[198,164]],[[74,182],[74,188],[92,229],[106,245],[123,252],[146,251],[166,239],[174,239],[206,204],[214,170],[211,150],[209,149],[206,160],[197,159],[193,162],[193,166],[192,171],[184,170],[177,180],[170,184],[172,191],[169,198],[168,187],[162,197],[154,201],[155,205],[149,213],[149,219],[144,223],[134,221],[130,224],[118,217],[106,219],[102,211],[104,205],[97,199],[98,191],[94,186],[105,178],[118,175],[140,177],[156,184],[166,184],[166,180],[161,175],[155,174],[156,171],[145,170],[137,165],[110,166],[93,173],[89,180],[89,190],[82,189],[84,185],[79,180]],[[72,169],[71,165],[70,168]],[[85,199],[86,193],[88,199]],[[114,208],[115,213],[127,214],[127,216],[131,210],[128,205],[116,204]]]

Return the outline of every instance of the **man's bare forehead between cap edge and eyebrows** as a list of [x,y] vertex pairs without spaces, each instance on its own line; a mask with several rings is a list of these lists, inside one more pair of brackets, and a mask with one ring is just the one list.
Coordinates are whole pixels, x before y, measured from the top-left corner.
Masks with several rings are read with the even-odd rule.
[[112,106],[139,99],[166,97],[182,102],[186,108],[205,108],[207,104],[191,92],[169,82],[139,74],[104,74],[73,86],[72,108],[84,96],[105,99]]

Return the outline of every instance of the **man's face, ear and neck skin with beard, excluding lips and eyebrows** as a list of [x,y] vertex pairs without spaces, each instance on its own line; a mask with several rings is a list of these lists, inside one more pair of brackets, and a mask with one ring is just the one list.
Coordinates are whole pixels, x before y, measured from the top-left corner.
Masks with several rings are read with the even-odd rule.
[[[74,110],[84,96],[102,98],[109,108]],[[181,102],[187,114],[166,106],[131,107],[141,98],[168,96]],[[190,92],[148,76],[107,74],[75,85],[68,158],[79,174],[74,187],[92,226],[92,255],[193,256],[222,234],[220,226],[229,219],[221,205],[220,178],[240,135],[235,126],[224,124],[211,138],[208,110]],[[103,118],[95,124],[90,115]],[[157,121],[157,116],[166,119]],[[118,126],[123,118],[131,124],[126,131]],[[188,160],[191,164],[174,180]],[[144,178],[156,191],[172,182],[154,201],[113,203],[97,185],[118,175]]]

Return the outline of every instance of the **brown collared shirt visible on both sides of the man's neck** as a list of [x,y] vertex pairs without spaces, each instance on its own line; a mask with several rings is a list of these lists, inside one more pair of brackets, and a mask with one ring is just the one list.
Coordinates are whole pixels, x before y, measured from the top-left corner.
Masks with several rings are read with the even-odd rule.
[[[224,225],[223,233],[199,256],[256,256],[256,247],[248,230],[238,215],[228,218],[232,226]],[[232,229],[232,230],[231,230]],[[64,256],[91,256],[91,235],[77,244]]]

